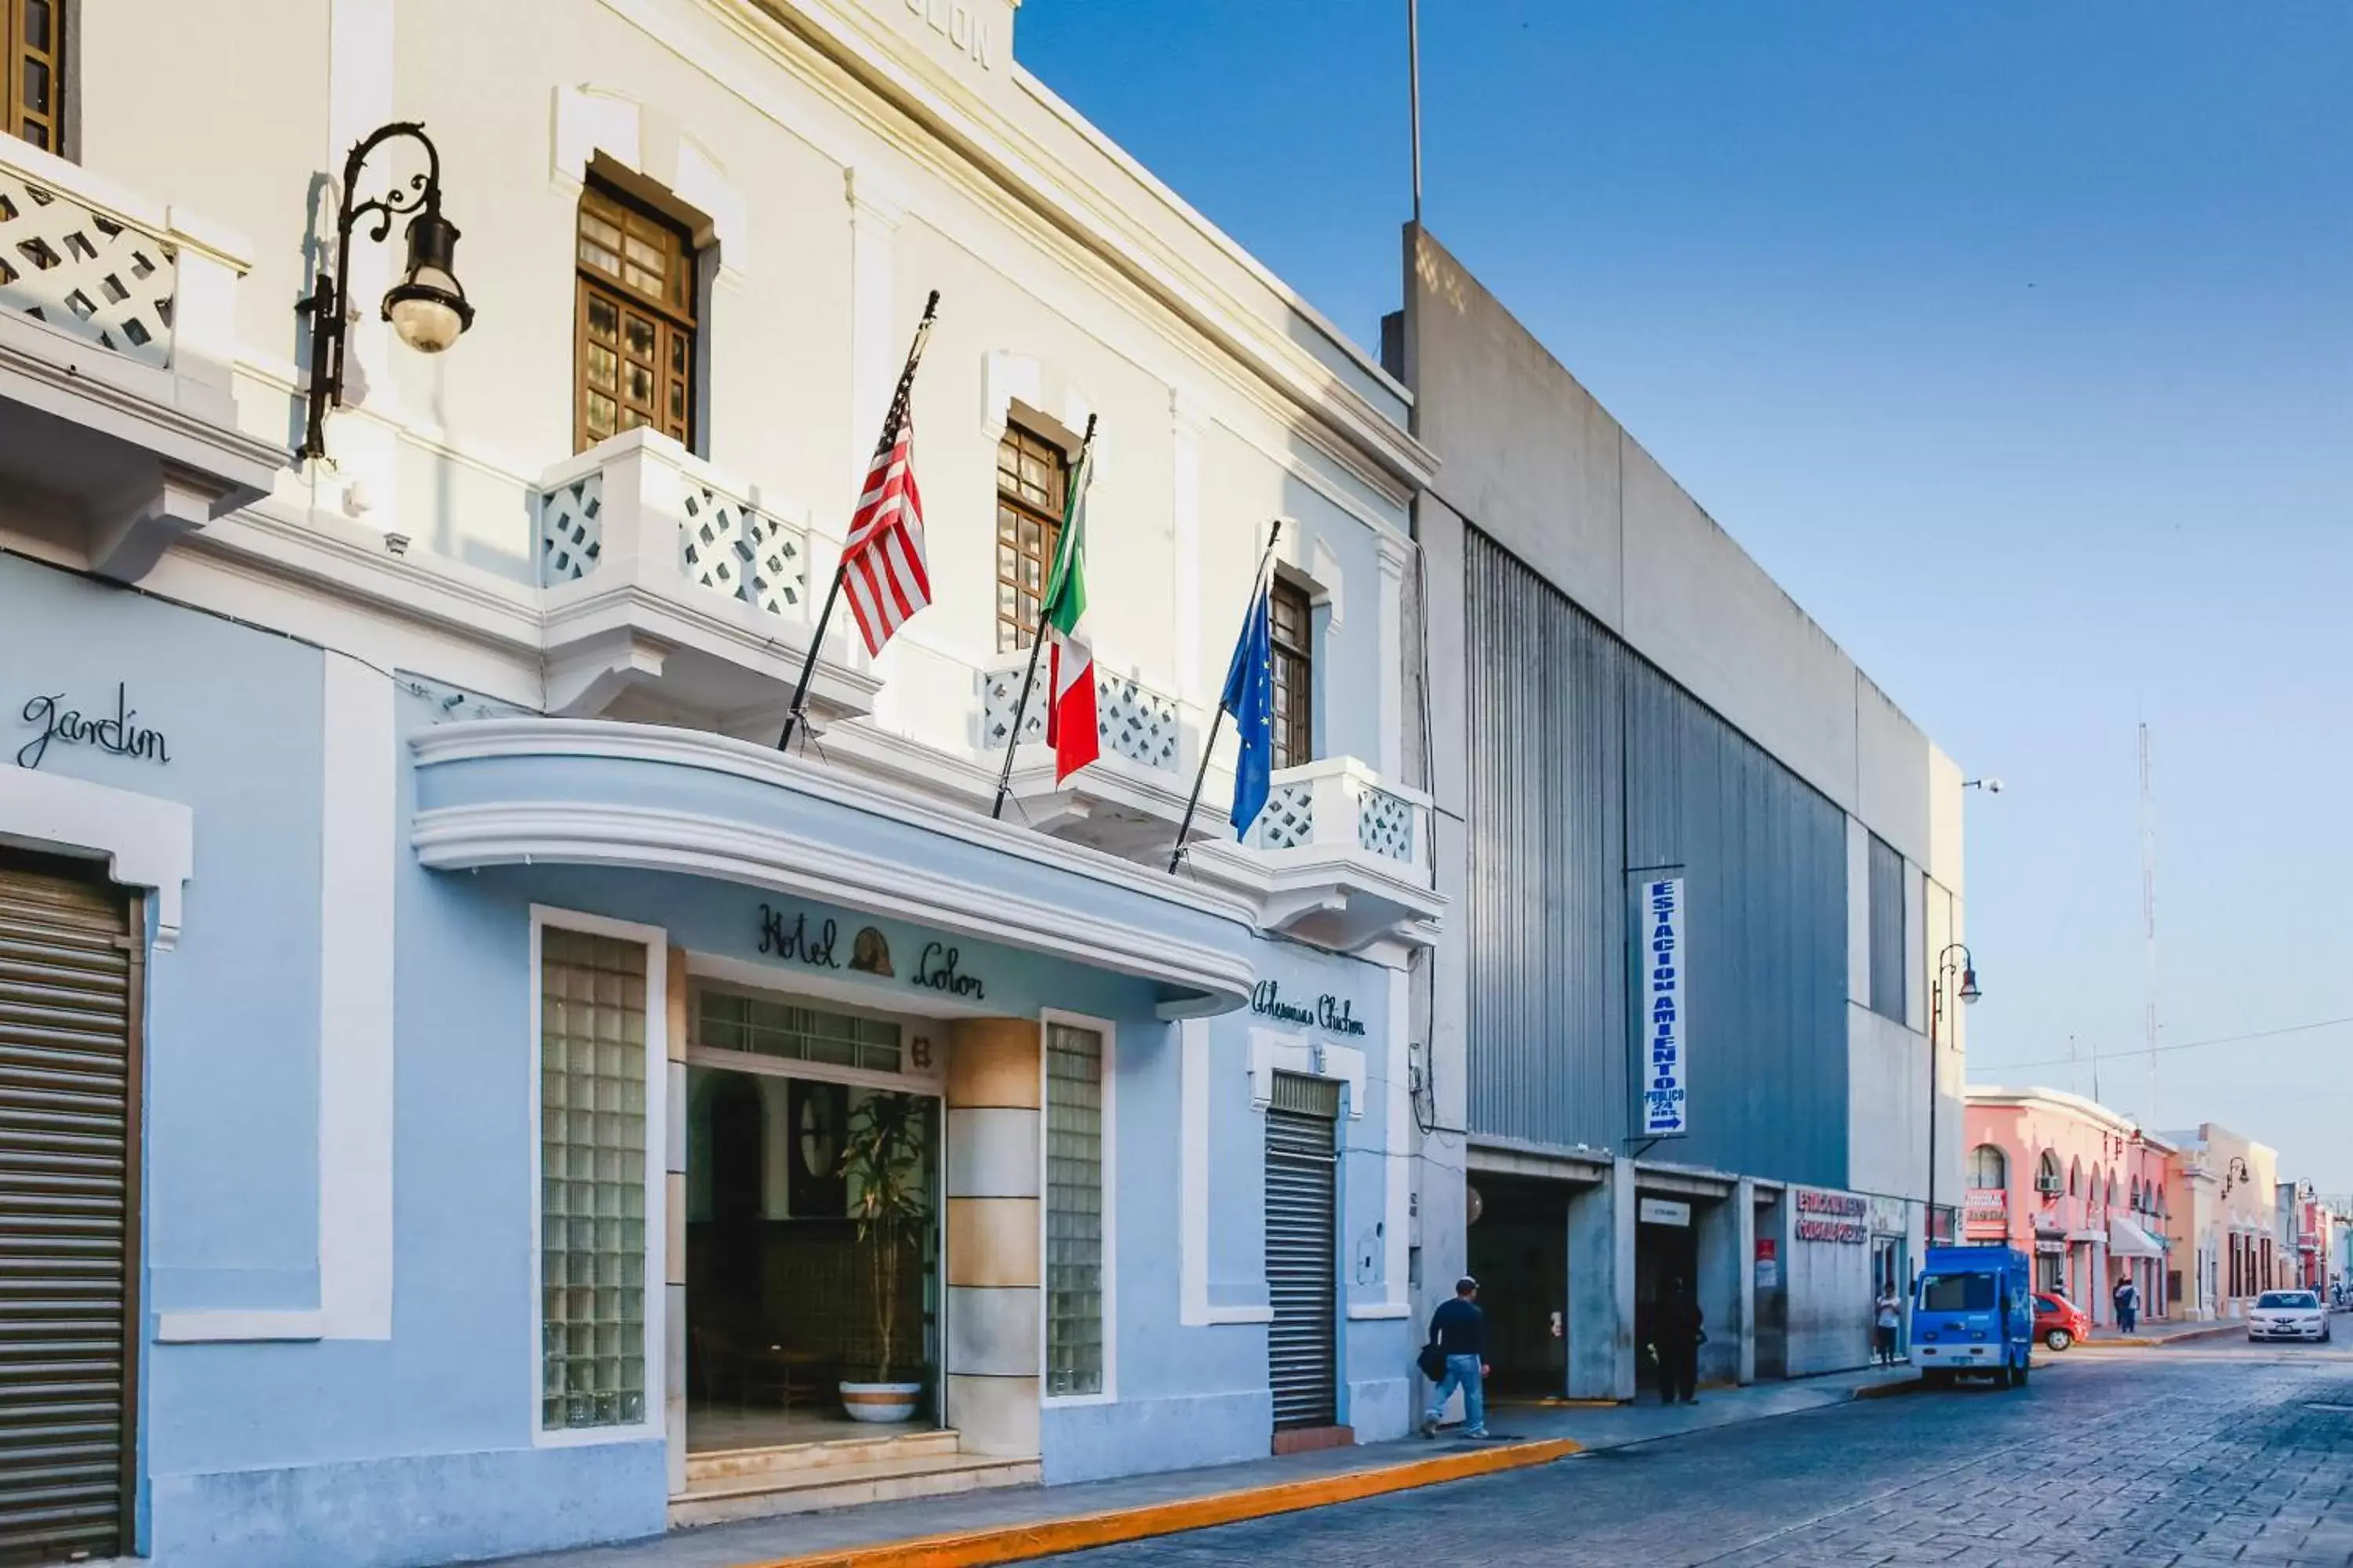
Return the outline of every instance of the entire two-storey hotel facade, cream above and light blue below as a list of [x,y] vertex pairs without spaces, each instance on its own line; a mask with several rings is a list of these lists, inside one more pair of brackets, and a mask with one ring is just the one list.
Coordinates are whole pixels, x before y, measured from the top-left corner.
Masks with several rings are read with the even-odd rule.
[[[61,21],[0,143],[0,1556],[426,1563],[1402,1434],[1405,388],[1007,0]],[[424,190],[409,134],[341,188],[400,122],[473,322],[407,348],[362,216],[304,461],[299,306],[339,202]],[[934,604],[878,658],[833,621],[786,755],[934,289]],[[1104,757],[1056,785],[1016,698],[1089,421]],[[1278,517],[1273,795],[1233,842],[1228,726],[1172,875]]]

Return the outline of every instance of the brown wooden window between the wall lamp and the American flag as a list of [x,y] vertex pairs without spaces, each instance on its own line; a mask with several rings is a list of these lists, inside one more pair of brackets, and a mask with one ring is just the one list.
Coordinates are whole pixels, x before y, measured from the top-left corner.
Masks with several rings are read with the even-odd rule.
[[[602,209],[602,212],[598,212]],[[631,287],[624,277],[614,277],[600,268],[593,268],[581,256],[581,226],[588,216],[598,216],[605,223],[616,223],[621,228],[624,242],[631,237],[645,237],[647,233],[664,244],[666,266],[675,268],[668,273],[678,282],[682,303],[678,299],[654,296],[645,289]],[[701,334],[701,249],[694,244],[694,233],[668,216],[652,202],[635,197],[619,186],[588,179],[581,183],[581,197],[572,209],[572,449],[574,454],[588,451],[598,442],[607,442],[614,435],[626,435],[628,430],[656,430],[668,435],[673,442],[687,451],[699,451],[701,437],[701,357],[704,357],[704,334]],[[619,320],[619,336],[612,343],[619,357],[619,376],[612,386],[614,402],[614,428],[607,435],[591,435],[588,428],[588,397],[598,393],[588,383],[588,350],[595,339],[588,329],[591,301],[605,299],[612,303]],[[654,411],[659,418],[642,425],[624,423],[635,407],[621,390],[628,376],[628,315],[642,315],[654,322]],[[685,367],[671,369],[671,350],[678,341],[685,341]],[[685,397],[685,421],[682,430],[673,430],[666,416],[671,383],[678,383]],[[605,393],[598,393],[605,395]]]

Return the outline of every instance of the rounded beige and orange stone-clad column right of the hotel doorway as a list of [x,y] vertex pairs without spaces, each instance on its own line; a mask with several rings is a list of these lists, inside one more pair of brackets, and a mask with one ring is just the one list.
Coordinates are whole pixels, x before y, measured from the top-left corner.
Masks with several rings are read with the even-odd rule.
[[972,1018],[948,1041],[948,1420],[965,1453],[1038,1453],[1045,1333],[1035,1018]]

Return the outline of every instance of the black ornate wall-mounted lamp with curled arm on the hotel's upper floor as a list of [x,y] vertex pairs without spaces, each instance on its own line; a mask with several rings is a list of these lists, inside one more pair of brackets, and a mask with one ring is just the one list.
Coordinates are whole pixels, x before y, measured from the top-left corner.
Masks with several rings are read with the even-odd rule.
[[[426,150],[424,174],[393,183],[379,197],[353,200],[360,167],[386,141],[409,139]],[[473,324],[473,306],[456,280],[456,223],[440,209],[440,150],[414,120],[395,120],[351,148],[344,160],[344,190],[334,216],[334,268],[322,268],[318,287],[296,310],[311,317],[311,416],[301,454],[327,456],[327,409],[344,397],[344,329],[351,322],[351,230],[360,219],[374,219],[369,240],[393,233],[393,219],[409,216],[409,263],[384,294],[384,320],[416,353],[438,355]]]

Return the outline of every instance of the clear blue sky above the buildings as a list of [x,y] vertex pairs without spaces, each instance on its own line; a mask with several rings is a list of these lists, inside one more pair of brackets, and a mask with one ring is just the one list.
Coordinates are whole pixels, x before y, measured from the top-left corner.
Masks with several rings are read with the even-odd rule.
[[[2353,1016],[2353,5],[1426,0],[1426,221],[1972,773],[1972,1077]],[[1405,0],[1026,0],[1362,343]],[[2068,1041],[2085,1065],[2066,1065]],[[2353,1027],[2160,1058],[2353,1190]]]

